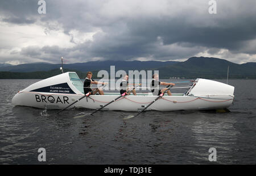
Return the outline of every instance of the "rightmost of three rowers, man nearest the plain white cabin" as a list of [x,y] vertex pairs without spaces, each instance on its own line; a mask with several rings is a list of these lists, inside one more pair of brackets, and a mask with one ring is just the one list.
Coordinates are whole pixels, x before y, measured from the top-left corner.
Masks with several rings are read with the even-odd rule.
[[[158,96],[158,95],[164,93],[164,91],[167,90],[167,88],[160,90],[159,87],[158,87],[159,85],[163,85],[163,86],[171,86],[171,85],[173,85],[173,86],[175,86],[175,83],[171,83],[171,82],[159,82],[159,75],[158,75],[158,74],[153,74],[153,76],[152,76],[152,81],[151,81],[151,87],[154,87],[155,89],[151,89],[151,92],[152,92],[152,94],[155,95],[155,96]],[[169,96],[172,95],[170,90],[167,91],[167,94],[168,94]]]

